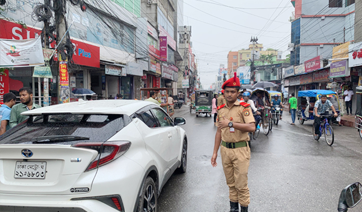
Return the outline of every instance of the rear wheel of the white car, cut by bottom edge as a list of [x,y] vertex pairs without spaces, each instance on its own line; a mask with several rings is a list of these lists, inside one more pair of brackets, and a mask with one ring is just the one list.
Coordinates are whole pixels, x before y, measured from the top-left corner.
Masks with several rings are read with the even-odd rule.
[[151,177],[147,177],[143,184],[137,212],[157,212],[157,190]]

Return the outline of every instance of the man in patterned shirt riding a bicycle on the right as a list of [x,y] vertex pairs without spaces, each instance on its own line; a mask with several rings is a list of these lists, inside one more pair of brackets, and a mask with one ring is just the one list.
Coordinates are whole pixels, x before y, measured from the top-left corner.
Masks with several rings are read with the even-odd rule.
[[[319,127],[321,125],[321,116],[328,116],[330,115],[328,110],[332,109],[333,112],[335,113],[334,116],[337,117],[337,111],[335,109],[335,107],[333,106],[332,102],[330,100],[327,99],[327,95],[323,94],[321,96],[321,99],[318,100],[315,105],[314,105],[314,110],[313,110],[313,115],[315,116],[314,118],[314,123],[315,123],[315,136],[318,136],[320,134],[319,131]],[[330,120],[328,120],[330,121]]]

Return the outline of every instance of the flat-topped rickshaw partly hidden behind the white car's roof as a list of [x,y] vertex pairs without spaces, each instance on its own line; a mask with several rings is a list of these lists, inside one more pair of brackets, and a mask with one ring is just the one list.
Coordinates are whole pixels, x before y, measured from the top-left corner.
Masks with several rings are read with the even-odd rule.
[[157,101],[161,104],[161,107],[164,111],[168,113],[169,116],[175,114],[173,104],[166,105],[168,97],[168,88],[141,88],[141,100],[150,98],[150,92],[157,92]]

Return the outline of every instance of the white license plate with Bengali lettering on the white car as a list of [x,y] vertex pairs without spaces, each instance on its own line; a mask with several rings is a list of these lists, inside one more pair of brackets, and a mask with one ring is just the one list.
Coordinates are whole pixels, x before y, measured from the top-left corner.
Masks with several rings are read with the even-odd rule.
[[14,178],[44,179],[46,162],[16,161]]

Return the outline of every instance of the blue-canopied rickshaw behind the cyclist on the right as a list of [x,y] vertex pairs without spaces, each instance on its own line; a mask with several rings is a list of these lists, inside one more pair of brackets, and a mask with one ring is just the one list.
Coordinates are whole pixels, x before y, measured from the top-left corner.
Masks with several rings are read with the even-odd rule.
[[336,92],[331,90],[305,90],[298,92],[298,113],[297,118],[300,124],[305,121],[314,120],[313,109],[316,101],[321,99],[322,95],[327,95],[335,107],[338,114],[340,114],[340,102]]

